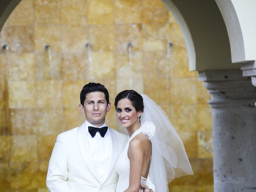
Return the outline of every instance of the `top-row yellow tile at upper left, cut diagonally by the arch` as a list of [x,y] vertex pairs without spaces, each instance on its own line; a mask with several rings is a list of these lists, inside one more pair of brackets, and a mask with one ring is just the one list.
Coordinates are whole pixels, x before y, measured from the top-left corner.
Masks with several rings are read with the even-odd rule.
[[33,24],[33,0],[22,0],[6,21],[7,26],[32,26]]

